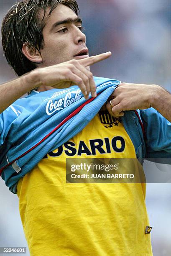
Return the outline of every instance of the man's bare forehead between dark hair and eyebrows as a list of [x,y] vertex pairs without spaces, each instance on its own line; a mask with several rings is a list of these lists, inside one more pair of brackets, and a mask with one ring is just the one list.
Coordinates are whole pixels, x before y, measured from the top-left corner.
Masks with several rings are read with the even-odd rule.
[[[48,8],[47,13],[49,12],[49,10],[50,8]],[[62,4],[58,5],[46,20],[43,32],[50,31],[54,23],[61,20],[66,20],[67,18],[74,19],[77,18],[77,15],[69,7]]]

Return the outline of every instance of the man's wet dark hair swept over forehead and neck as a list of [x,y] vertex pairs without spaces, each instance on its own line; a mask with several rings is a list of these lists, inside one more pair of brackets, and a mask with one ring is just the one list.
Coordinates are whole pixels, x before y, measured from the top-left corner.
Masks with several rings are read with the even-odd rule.
[[[57,5],[63,4],[78,15],[75,0],[23,0],[13,5],[3,19],[1,33],[5,57],[15,73],[21,76],[36,68],[36,64],[24,56],[23,43],[35,51],[43,49],[43,28]],[[48,16],[46,9],[50,8]],[[43,11],[43,17],[40,16]]]

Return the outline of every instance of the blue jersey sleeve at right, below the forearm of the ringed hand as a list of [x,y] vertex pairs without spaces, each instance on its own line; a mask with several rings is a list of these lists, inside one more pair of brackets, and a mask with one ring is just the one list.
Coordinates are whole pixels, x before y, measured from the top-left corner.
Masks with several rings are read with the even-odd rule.
[[171,158],[171,123],[157,110],[140,110],[146,134],[145,158]]

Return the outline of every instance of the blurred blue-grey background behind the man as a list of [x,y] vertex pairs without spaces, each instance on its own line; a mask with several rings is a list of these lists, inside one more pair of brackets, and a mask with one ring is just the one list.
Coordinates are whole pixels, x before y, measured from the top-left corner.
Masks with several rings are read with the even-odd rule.
[[[89,54],[111,51],[92,66],[94,76],[160,84],[171,92],[169,0],[78,0]],[[15,0],[0,0],[0,23]],[[0,83],[15,78],[0,45]],[[162,104],[162,102],[161,102]],[[171,184],[147,184],[154,256],[171,255]],[[0,179],[0,247],[26,247],[18,197]],[[29,253],[26,255],[29,256]]]

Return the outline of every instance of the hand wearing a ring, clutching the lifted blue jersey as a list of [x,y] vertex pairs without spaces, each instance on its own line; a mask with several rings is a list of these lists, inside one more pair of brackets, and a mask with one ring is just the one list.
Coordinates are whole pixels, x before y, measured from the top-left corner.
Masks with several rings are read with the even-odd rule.
[[110,115],[119,117],[124,115],[125,110],[150,108],[161,90],[163,88],[156,84],[121,83],[108,99],[107,110]]

